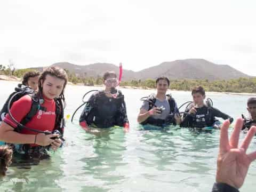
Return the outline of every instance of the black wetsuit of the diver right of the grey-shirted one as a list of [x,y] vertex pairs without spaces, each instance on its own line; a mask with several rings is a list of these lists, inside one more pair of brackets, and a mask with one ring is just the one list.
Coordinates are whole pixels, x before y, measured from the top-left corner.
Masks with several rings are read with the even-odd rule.
[[215,117],[221,117],[222,119],[229,119],[230,123],[233,122],[233,118],[229,115],[222,113],[219,109],[213,107],[203,106],[196,108],[196,114],[188,114],[188,111],[191,109],[189,107],[186,109],[186,113],[183,115],[181,127],[208,127],[213,126],[213,124],[218,121]]

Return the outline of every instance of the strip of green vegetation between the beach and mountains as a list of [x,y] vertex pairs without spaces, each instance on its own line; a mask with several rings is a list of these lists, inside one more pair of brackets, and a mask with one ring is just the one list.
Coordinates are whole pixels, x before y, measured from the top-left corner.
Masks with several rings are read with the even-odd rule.
[[[15,69],[11,66],[5,67],[0,65],[0,74],[2,75],[14,75],[17,77],[22,77],[27,71],[34,69]],[[71,73],[69,70],[65,69],[68,74],[68,80],[74,84],[82,83],[84,85],[102,85],[102,77],[97,78],[88,77],[86,74],[84,76],[78,76],[75,73]],[[156,89],[156,83],[154,79],[132,80],[121,82],[121,86],[133,86],[142,87],[142,89]],[[197,85],[202,85],[206,91],[214,92],[236,92],[236,93],[256,93],[256,78],[238,78],[231,80],[221,80],[221,81],[209,81],[208,79],[176,79],[171,80],[170,89],[173,90],[183,90],[190,91],[193,87]]]

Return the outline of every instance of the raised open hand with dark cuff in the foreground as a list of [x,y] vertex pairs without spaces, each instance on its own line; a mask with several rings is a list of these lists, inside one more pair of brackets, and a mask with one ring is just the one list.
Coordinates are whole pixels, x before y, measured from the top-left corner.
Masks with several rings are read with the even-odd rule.
[[226,120],[220,129],[216,182],[212,192],[239,192],[238,189],[244,183],[250,164],[256,159],[256,151],[246,154],[246,150],[256,133],[256,127],[251,127],[241,146],[238,147],[243,119],[238,118],[236,120],[233,133],[228,140],[229,126],[230,122]]

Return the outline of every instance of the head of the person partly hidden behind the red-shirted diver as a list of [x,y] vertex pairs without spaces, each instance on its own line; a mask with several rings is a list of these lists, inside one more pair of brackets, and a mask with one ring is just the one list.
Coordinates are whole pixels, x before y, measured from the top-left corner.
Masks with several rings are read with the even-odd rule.
[[23,75],[22,85],[30,86],[31,89],[38,89],[38,79],[40,73],[38,71],[28,71]]

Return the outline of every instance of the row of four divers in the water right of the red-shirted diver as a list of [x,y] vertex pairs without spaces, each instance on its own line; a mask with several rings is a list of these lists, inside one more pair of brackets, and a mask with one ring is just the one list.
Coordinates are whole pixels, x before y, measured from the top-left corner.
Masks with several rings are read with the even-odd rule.
[[[85,130],[90,130],[89,126],[106,128],[115,125],[123,126],[125,130],[129,129],[124,95],[120,90],[114,91],[115,96],[111,93],[111,90],[115,90],[119,84],[117,75],[113,71],[106,72],[103,81],[105,90],[97,91],[86,102],[79,124]],[[170,94],[166,94],[169,85],[170,80],[167,77],[156,79],[157,93],[141,99],[143,104],[137,118],[138,123],[160,127],[172,124],[209,129],[220,128],[221,123],[217,118],[229,119],[230,124],[233,122],[232,117],[212,106],[211,99],[204,102],[205,90],[202,86],[193,88],[191,92],[193,101],[189,102],[184,112],[180,112],[175,99]],[[256,125],[256,98],[249,98],[247,110],[250,115],[244,118],[243,129],[249,130],[252,125]]]

